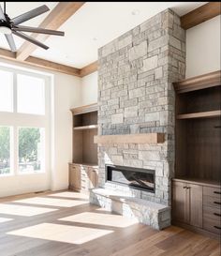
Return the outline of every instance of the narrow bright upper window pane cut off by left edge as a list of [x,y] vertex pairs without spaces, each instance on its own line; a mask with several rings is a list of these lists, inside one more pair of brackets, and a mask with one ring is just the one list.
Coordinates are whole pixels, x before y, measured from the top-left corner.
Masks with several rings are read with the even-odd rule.
[[12,112],[13,110],[13,74],[0,70],[0,112]]

